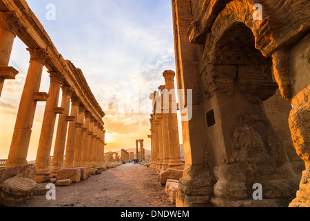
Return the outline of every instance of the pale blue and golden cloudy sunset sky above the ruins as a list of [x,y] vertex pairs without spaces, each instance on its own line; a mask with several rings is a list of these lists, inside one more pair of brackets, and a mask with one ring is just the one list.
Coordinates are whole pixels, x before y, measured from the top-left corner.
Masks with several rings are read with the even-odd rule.
[[[150,149],[147,135],[150,134],[151,100],[147,96],[165,84],[164,70],[175,70],[171,1],[27,2],[59,53],[72,61],[76,68],[81,68],[92,93],[105,111],[103,121],[108,143],[105,151],[134,148],[135,141],[140,139],[145,140],[145,148]],[[50,8],[51,3],[54,8]],[[28,71],[30,55],[25,48],[17,37],[9,66],[19,70],[19,74],[15,80],[5,82],[0,99],[0,159],[8,157]],[[49,81],[44,68],[40,91],[48,93]],[[120,110],[128,95],[134,95],[133,101],[140,101],[140,106],[134,106],[134,113]],[[39,102],[28,160],[34,160],[37,155],[44,108],[45,103]],[[52,151],[53,148],[54,143]]]

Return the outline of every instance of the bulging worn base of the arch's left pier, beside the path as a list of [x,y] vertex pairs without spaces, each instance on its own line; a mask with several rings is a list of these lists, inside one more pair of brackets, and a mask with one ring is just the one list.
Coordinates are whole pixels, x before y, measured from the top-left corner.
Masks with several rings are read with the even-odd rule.
[[185,166],[183,177],[179,180],[176,207],[211,206],[214,183],[208,165]]

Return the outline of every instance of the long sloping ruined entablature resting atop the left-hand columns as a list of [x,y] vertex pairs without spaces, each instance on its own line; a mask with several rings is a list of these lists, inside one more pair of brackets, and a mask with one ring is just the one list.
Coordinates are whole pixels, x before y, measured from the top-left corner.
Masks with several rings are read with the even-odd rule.
[[[81,103],[89,107],[89,111],[103,124],[102,118],[105,116],[105,113],[102,111],[101,106],[99,106],[92,91],[87,85],[83,73],[80,69],[77,70],[70,61],[63,59],[61,54],[59,54],[39,19],[37,19],[29,8],[28,3],[26,3],[25,0],[1,0],[0,3],[1,12],[10,12],[11,17],[15,17],[14,19],[8,20],[14,21],[13,24],[16,28],[13,30],[16,32],[17,37],[19,37],[28,48],[37,48],[39,50],[45,50],[45,52],[48,53],[48,58],[44,63],[48,71],[63,73],[64,85],[74,88],[76,95],[81,98]],[[17,21],[18,25],[15,25]]]

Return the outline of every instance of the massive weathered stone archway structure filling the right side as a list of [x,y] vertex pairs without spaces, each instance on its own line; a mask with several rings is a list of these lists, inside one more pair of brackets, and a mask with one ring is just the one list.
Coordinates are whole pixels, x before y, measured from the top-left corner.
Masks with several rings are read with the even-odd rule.
[[[176,205],[310,206],[310,1],[172,0],[172,11],[178,89],[193,90]],[[293,106],[287,142],[296,151],[265,111],[276,90]],[[263,200],[252,198],[256,183]]]

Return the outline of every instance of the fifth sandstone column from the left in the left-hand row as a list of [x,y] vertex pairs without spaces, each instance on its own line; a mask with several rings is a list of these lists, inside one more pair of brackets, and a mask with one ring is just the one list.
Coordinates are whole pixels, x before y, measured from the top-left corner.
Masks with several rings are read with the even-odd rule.
[[75,138],[76,138],[76,123],[79,112],[79,97],[71,98],[71,112],[70,117],[72,117],[72,121],[69,123],[68,127],[68,140],[67,146],[65,148],[65,165],[64,168],[72,168],[73,160],[74,160],[74,148],[75,148]]

